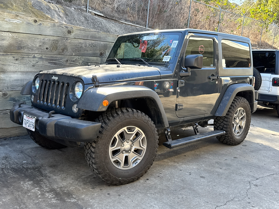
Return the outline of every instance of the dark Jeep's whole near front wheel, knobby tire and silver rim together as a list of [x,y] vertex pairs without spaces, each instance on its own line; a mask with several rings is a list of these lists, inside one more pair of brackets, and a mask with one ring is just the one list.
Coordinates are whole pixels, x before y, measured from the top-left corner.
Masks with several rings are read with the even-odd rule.
[[104,181],[120,185],[131,183],[153,164],[158,150],[158,133],[153,121],[130,108],[103,113],[99,135],[85,143],[90,168]]

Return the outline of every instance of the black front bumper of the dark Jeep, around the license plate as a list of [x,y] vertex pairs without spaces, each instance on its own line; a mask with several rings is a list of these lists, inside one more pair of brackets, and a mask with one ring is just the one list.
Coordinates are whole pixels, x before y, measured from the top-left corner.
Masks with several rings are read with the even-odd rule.
[[21,105],[20,103],[22,102],[16,102],[12,109],[10,109],[11,121],[22,125],[24,113],[35,116],[35,129],[47,138],[74,142],[90,142],[99,133],[101,127],[101,123],[99,122],[79,120],[61,114],[53,114],[49,118],[48,112],[28,106],[25,102]]

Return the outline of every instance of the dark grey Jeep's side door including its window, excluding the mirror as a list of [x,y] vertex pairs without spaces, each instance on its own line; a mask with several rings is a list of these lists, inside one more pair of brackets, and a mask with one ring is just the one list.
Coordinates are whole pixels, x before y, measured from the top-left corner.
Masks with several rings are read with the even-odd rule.
[[[216,47],[217,36],[205,37],[202,35],[190,36],[188,39],[185,56],[190,54],[203,55],[203,68],[191,69],[191,75],[178,80],[184,81],[184,86],[179,87],[176,99],[176,115],[179,118],[214,114],[217,109],[217,99],[220,94],[219,80],[210,76],[218,76]],[[183,66],[180,70],[183,69]],[[181,83],[181,82],[180,82]],[[182,82],[183,83],[183,82]],[[183,107],[183,109],[181,109]]]

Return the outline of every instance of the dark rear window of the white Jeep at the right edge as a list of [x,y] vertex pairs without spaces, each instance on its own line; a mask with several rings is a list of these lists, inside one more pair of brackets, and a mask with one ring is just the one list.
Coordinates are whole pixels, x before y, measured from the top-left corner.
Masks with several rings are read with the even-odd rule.
[[252,53],[253,66],[260,71],[260,73],[275,73],[275,54],[269,53]]

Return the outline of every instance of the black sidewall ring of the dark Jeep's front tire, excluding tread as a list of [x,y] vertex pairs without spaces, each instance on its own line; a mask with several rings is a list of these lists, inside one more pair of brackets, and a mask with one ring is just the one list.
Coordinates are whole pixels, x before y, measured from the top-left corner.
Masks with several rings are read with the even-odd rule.
[[[141,129],[144,132],[144,135],[146,137],[146,151],[144,154],[144,157],[139,162],[138,165],[131,169],[127,170],[121,170],[117,167],[115,167],[109,156],[109,146],[110,142],[112,140],[112,137],[115,135],[117,131],[120,129],[127,127],[127,126],[135,126]],[[118,178],[129,178],[133,177],[137,174],[140,174],[145,170],[145,168],[151,163],[154,154],[156,153],[156,145],[157,145],[157,138],[155,133],[152,133],[152,129],[146,124],[146,122],[139,120],[139,119],[129,119],[120,122],[118,125],[116,125],[111,131],[108,131],[108,133],[104,133],[102,136],[103,140],[105,140],[104,146],[103,146],[103,156],[102,160],[105,166],[107,167],[107,170],[110,171],[110,173]]]

